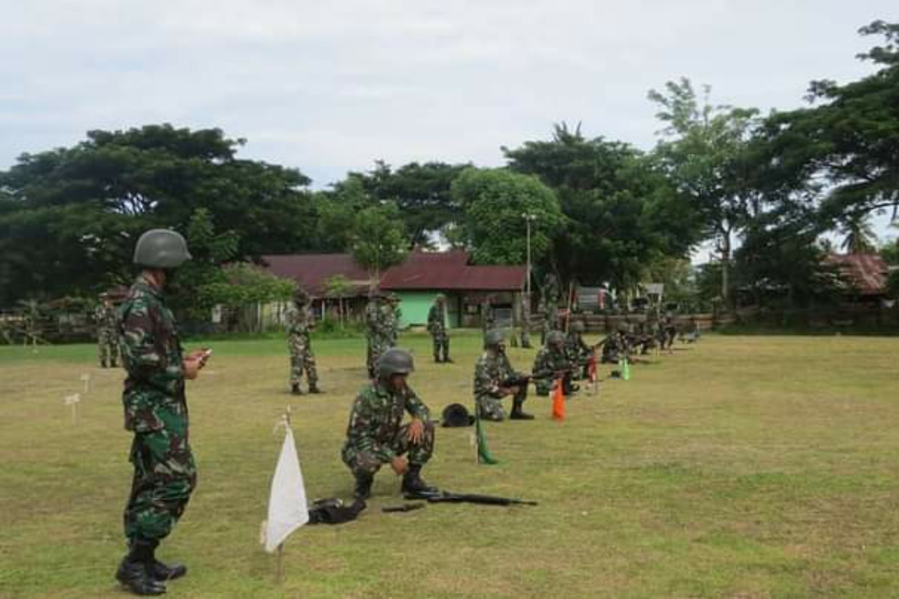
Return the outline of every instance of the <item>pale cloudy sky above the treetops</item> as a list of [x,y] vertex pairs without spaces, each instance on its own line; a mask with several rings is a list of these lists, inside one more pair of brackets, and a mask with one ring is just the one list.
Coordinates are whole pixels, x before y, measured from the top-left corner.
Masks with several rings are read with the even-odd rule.
[[[855,55],[895,0],[3,0],[0,169],[87,130],[170,122],[325,188],[375,160],[503,165],[554,123],[652,148],[650,89],[768,112]],[[879,40],[877,40],[879,41]]]

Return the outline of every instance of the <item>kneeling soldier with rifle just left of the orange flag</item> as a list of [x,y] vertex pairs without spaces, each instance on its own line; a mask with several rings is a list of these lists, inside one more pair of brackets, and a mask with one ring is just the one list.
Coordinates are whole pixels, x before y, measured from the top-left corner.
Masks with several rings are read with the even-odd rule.
[[505,353],[505,334],[499,329],[487,331],[484,353],[475,364],[475,409],[485,420],[505,420],[502,399],[512,396],[512,420],[533,420],[521,409],[528,398],[528,378],[515,371]]

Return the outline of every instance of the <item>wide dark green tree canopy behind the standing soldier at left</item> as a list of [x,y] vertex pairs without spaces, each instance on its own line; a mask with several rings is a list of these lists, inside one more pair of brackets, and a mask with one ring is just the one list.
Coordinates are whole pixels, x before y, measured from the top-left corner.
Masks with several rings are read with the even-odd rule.
[[239,230],[237,255],[306,249],[316,219],[295,169],[243,160],[221,130],[87,134],[0,172],[0,302],[95,291],[127,272],[140,231],[187,227],[198,209]]

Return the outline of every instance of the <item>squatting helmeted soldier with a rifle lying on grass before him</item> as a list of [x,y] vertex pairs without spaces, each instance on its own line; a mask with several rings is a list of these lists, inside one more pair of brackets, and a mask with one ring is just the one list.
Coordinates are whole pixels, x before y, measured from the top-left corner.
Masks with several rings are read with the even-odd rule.
[[[378,378],[361,389],[352,404],[341,457],[356,478],[353,496],[357,499],[371,496],[375,473],[384,464],[403,476],[401,490],[408,496],[427,496],[437,490],[421,478],[422,467],[434,451],[434,425],[428,407],[406,384],[412,371],[408,352],[388,349],[378,361]],[[412,422],[403,425],[405,412]]]

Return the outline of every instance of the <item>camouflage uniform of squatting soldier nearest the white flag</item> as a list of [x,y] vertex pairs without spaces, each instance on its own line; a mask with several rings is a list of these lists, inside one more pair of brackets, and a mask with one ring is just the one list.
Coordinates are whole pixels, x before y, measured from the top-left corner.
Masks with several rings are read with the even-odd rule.
[[[409,425],[402,425],[408,412],[424,423],[420,443],[410,443]],[[382,465],[408,452],[409,463],[422,466],[434,450],[431,412],[415,392],[406,387],[396,392],[375,380],[360,390],[352,404],[350,424],[343,444],[343,463],[353,474],[373,475]]]

